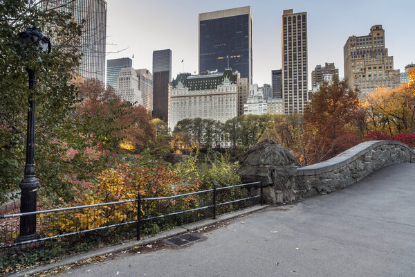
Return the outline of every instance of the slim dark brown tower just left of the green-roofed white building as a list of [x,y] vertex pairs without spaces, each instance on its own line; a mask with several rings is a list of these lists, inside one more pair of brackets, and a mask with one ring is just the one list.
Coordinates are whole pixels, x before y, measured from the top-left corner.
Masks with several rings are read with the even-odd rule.
[[167,122],[169,82],[172,80],[172,51],[153,51],[153,117]]

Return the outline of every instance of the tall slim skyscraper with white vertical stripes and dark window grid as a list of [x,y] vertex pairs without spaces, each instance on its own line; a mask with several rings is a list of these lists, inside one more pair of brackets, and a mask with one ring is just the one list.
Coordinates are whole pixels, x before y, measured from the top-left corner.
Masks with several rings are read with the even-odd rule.
[[284,114],[302,113],[308,101],[306,12],[284,10],[282,61]]

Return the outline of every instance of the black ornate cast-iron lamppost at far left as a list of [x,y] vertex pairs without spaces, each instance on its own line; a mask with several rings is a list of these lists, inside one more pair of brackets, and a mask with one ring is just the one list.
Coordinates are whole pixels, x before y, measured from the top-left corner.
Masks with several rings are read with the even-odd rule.
[[[19,40],[23,49],[39,48],[40,51],[50,53],[50,40],[36,27],[28,28],[24,32],[19,33]],[[25,55],[33,55],[33,53],[25,53]],[[37,80],[35,71],[26,67],[29,75],[29,89],[31,91],[29,97],[28,110],[28,129],[26,138],[26,166],[24,168],[24,179],[20,182],[20,212],[28,213],[36,211],[37,188],[39,181],[35,176],[35,116],[36,101],[35,89]],[[35,240],[39,238],[36,233],[36,215],[24,215],[20,217],[20,233],[17,242],[27,240]]]

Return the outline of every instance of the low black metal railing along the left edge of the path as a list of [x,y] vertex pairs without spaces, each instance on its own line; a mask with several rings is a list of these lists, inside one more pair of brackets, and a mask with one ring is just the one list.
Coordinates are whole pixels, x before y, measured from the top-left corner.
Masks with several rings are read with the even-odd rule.
[[[241,190],[236,188],[259,188],[259,195],[243,196]],[[237,199],[232,199],[232,193],[226,193],[226,190],[234,188],[232,193]],[[246,190],[247,191],[247,190]],[[203,195],[203,196],[202,196]],[[187,197],[187,198],[186,198]],[[105,229],[115,229],[120,226],[135,225],[136,238],[140,240],[143,229],[142,224],[150,220],[164,219],[165,217],[175,217],[192,213],[189,217],[175,217],[175,224],[194,222],[200,220],[200,217],[206,213],[199,214],[199,211],[207,210],[215,219],[217,209],[225,205],[238,204],[250,199],[259,198],[262,205],[263,186],[260,181],[248,184],[239,184],[235,186],[217,187],[213,186],[209,190],[201,190],[194,193],[185,193],[169,197],[147,197],[142,198],[138,193],[137,199],[108,202],[102,204],[91,204],[84,206],[73,206],[68,208],[55,208],[51,210],[35,211],[30,213],[15,213],[12,215],[0,216],[0,249],[6,247],[19,247],[24,244],[35,244],[45,240],[64,238],[70,235],[89,233]],[[243,206],[232,207],[235,211]],[[221,212],[230,211],[222,209]],[[194,212],[198,212],[194,216]],[[24,242],[16,242],[18,236],[17,222],[19,217],[28,215],[37,216],[37,231],[40,238]],[[4,224],[4,221],[8,221]]]

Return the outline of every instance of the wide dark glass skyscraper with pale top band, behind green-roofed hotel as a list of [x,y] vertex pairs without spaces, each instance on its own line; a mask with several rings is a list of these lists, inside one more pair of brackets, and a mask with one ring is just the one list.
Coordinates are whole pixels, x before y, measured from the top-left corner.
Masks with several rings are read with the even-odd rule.
[[199,14],[199,73],[228,68],[252,84],[250,6]]

